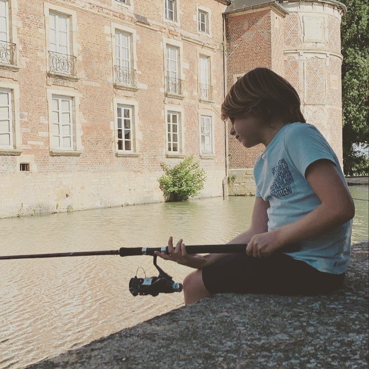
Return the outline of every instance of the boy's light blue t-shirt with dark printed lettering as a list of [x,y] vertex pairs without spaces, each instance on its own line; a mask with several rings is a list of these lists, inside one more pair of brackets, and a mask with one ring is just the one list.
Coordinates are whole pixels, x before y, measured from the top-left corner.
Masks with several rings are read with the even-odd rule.
[[[319,206],[321,202],[305,178],[306,168],[319,159],[334,162],[345,181],[328,142],[317,128],[306,123],[286,124],[257,158],[256,196],[270,203],[269,231],[293,223]],[[351,230],[352,220],[321,236],[299,242],[299,251],[285,254],[321,272],[343,273],[350,257]]]

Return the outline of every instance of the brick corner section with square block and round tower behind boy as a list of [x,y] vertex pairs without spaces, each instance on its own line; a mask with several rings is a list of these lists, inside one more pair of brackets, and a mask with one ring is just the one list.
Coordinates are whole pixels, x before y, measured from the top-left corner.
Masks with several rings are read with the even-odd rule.
[[[224,14],[227,90],[245,72],[267,67],[290,81],[308,123],[330,142],[342,165],[341,17],[336,0],[234,0]],[[253,165],[262,146],[229,138],[230,194],[254,194]]]

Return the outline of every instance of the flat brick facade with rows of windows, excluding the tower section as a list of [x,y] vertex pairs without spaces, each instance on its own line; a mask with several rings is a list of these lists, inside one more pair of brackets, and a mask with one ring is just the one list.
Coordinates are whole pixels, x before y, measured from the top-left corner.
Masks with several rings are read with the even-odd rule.
[[162,201],[226,177],[223,0],[0,0],[0,218]]

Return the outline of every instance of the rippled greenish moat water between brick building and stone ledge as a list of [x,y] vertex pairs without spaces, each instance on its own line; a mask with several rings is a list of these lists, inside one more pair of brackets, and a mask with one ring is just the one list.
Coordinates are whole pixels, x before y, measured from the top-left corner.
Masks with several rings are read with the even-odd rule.
[[[351,187],[367,199],[367,187]],[[0,255],[225,243],[248,228],[254,197],[191,200],[0,220]],[[368,203],[355,200],[353,242],[367,239]],[[190,271],[159,260],[176,282]],[[0,368],[22,368],[183,305],[183,295],[133,297],[152,258],[89,256],[0,261]],[[144,276],[140,269],[138,276]]]

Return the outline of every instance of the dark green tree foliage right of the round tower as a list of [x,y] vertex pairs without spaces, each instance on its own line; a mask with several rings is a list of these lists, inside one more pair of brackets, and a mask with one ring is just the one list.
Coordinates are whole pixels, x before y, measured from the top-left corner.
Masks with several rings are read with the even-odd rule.
[[341,0],[343,170],[368,174],[369,32],[366,0]]

